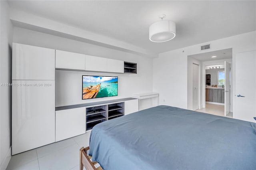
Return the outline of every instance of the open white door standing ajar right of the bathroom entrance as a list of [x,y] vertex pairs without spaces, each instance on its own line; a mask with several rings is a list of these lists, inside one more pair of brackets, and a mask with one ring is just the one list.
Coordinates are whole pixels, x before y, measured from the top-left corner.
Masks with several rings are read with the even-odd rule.
[[224,88],[224,115],[230,112],[230,63],[224,61],[225,88]]

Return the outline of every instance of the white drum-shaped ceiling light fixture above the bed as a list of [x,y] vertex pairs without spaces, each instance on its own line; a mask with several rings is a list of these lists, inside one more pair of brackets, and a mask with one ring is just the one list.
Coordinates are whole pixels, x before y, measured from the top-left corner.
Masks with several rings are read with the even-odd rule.
[[171,20],[163,20],[165,14],[161,14],[161,21],[153,23],[149,27],[149,40],[152,42],[167,42],[176,36],[176,24]]

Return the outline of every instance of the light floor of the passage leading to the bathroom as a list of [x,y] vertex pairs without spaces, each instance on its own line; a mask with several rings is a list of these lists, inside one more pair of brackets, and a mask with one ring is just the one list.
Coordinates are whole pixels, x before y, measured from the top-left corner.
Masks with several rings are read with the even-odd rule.
[[[225,117],[224,105],[214,105],[210,103],[205,103],[205,108],[197,109],[196,111]],[[233,118],[233,113],[232,112],[228,113],[226,117]]]

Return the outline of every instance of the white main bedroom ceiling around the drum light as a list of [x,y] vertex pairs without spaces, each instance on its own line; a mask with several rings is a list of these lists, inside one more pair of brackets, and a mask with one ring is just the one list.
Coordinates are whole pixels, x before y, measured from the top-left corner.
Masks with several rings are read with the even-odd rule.
[[[256,1],[9,1],[11,8],[161,53],[256,30]],[[158,15],[176,22],[176,37],[150,42]]]

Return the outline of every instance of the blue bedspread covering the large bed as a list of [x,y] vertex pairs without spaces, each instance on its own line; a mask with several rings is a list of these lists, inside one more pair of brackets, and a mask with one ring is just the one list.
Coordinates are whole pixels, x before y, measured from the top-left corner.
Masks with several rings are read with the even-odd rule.
[[255,170],[256,123],[158,106],[92,128],[104,170]]

